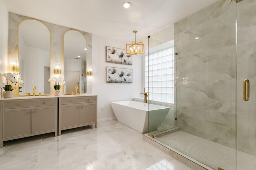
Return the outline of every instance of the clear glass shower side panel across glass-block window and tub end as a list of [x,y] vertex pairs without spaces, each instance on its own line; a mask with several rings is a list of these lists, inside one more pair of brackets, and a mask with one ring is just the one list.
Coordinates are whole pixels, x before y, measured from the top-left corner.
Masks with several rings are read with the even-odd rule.
[[173,39],[164,42],[151,36],[148,41],[151,46],[145,57],[145,90],[149,93],[148,133],[157,135],[176,129],[174,106],[176,49]]

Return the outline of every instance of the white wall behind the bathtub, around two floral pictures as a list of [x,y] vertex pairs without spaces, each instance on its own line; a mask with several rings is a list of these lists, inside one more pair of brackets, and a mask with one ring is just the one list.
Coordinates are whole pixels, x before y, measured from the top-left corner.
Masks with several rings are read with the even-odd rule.
[[[98,120],[115,117],[110,102],[132,100],[143,97],[142,56],[134,55],[132,65],[106,62],[106,46],[126,49],[126,43],[98,35],[92,35],[92,94],[98,94]],[[107,83],[106,67],[128,68],[133,71],[132,83]],[[101,111],[104,107],[104,111]]]

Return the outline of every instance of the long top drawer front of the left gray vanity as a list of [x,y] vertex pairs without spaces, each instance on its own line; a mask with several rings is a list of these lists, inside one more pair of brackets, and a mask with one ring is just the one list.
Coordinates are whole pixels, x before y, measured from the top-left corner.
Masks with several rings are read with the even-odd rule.
[[36,107],[36,106],[54,106],[54,99],[52,100],[24,100],[24,101],[10,101],[3,102],[4,109],[19,108],[19,107]]

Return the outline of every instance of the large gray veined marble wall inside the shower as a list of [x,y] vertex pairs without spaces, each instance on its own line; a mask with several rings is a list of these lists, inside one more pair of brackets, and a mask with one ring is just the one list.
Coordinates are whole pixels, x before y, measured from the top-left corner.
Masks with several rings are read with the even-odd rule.
[[[255,8],[256,0],[238,4],[219,0],[174,25],[177,126],[227,147],[237,145],[238,150],[254,156]],[[250,80],[248,102],[243,100],[245,78]]]

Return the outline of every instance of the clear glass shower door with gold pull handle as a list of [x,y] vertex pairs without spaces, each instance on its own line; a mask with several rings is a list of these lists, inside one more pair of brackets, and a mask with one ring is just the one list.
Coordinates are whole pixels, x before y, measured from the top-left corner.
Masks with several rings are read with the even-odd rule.
[[237,170],[256,169],[256,0],[236,1]]

